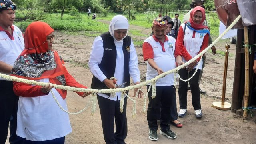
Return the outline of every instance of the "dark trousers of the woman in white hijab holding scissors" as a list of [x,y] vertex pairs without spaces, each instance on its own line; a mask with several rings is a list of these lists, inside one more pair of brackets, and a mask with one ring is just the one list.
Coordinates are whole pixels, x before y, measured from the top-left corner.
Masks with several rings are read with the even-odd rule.
[[[127,97],[124,98],[123,112],[120,112],[120,100],[109,100],[98,95],[97,99],[106,144],[125,144],[124,139],[127,136]],[[114,132],[114,122],[116,124],[116,132]]]

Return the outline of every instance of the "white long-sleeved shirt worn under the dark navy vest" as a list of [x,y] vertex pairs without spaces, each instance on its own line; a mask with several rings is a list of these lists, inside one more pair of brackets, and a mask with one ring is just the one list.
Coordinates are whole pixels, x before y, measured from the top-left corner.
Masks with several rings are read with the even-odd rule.
[[[92,50],[89,58],[89,69],[92,74],[98,78],[101,82],[105,80],[107,77],[103,74],[98,66],[103,58],[104,49],[103,49],[103,40],[100,36],[95,38],[92,44]],[[116,70],[114,73],[114,77],[118,80],[116,83],[122,84],[124,83],[124,53],[122,50],[122,46],[116,47]],[[134,47],[133,42],[130,45],[130,60],[129,60],[129,73],[132,77],[132,81],[139,82],[140,81],[140,71],[138,68],[138,57]],[[108,98],[110,100],[117,100],[116,97],[107,96],[106,94],[98,93],[99,96],[104,98]],[[121,92],[116,92],[116,96],[118,100],[120,100]]]

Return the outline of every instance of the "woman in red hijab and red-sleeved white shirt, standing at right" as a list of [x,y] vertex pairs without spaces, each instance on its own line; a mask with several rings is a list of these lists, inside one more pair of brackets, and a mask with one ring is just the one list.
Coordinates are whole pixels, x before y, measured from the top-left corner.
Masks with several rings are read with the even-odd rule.
[[[208,39],[210,35],[209,28],[203,25],[205,20],[204,8],[197,6],[190,13],[189,21],[181,24],[178,33],[177,44],[182,54],[182,61],[187,62],[198,55],[202,50],[208,46]],[[196,118],[202,117],[202,108],[200,102],[200,91],[198,84],[198,77],[202,69],[202,62],[200,58],[190,63],[187,69],[180,69],[179,75],[183,80],[188,79],[194,73],[192,79],[189,80],[192,94],[192,105],[195,110]],[[198,65],[198,62],[199,65]],[[198,70],[196,71],[196,68]],[[189,75],[189,76],[188,76]],[[184,117],[187,112],[187,94],[188,82],[179,80],[179,99],[180,112],[178,116]]]

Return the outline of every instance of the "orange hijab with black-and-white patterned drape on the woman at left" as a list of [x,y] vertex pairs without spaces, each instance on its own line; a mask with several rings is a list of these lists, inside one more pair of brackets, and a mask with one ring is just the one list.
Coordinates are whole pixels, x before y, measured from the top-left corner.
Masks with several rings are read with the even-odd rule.
[[[54,32],[45,22],[32,22],[25,31],[25,49],[14,62],[12,75],[29,80],[49,78],[50,83],[66,85],[64,61],[49,50],[46,37]],[[66,90],[56,89],[63,99]]]

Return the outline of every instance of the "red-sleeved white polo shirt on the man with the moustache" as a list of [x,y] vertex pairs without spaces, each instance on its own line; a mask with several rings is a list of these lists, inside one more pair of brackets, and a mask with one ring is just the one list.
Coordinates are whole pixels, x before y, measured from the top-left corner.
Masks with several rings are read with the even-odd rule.
[[[171,36],[165,36],[162,43],[154,35],[150,36],[143,43],[143,58],[147,61],[152,58],[159,68],[164,72],[172,70],[176,67],[175,57],[178,56],[178,50],[175,46],[176,40]],[[147,62],[146,80],[150,80],[158,76],[158,72]],[[156,82],[156,86],[171,86],[174,84],[174,74],[160,78]]]

